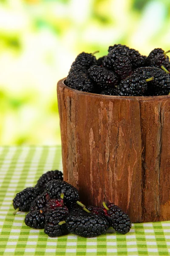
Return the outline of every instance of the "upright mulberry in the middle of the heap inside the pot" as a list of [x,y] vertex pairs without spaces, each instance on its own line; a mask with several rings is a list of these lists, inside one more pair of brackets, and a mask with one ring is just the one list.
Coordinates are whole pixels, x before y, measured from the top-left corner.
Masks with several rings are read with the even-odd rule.
[[132,65],[130,60],[125,56],[120,56],[114,62],[114,71],[116,75],[122,80],[132,74]]

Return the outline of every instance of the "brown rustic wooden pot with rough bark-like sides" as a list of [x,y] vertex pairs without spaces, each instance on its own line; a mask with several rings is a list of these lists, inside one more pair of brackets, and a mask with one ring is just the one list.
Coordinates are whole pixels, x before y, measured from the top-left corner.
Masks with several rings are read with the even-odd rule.
[[64,179],[84,204],[132,222],[170,220],[170,96],[122,97],[57,85]]

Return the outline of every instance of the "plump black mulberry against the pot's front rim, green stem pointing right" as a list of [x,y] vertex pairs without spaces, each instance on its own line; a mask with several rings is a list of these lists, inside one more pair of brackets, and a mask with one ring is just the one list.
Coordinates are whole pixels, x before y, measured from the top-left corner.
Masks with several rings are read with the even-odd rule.
[[147,82],[144,76],[136,73],[122,80],[117,90],[119,96],[142,96],[147,90]]

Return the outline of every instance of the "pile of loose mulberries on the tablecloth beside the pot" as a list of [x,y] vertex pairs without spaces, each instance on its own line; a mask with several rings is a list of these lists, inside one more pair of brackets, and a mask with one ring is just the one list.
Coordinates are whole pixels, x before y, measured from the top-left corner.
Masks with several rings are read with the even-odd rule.
[[67,233],[94,237],[104,234],[109,227],[121,234],[129,232],[131,222],[122,209],[105,202],[102,208],[85,207],[79,201],[78,190],[62,179],[62,172],[49,171],[40,177],[34,188],[16,195],[14,209],[30,211],[25,218],[28,227],[44,228],[44,233],[50,237]]

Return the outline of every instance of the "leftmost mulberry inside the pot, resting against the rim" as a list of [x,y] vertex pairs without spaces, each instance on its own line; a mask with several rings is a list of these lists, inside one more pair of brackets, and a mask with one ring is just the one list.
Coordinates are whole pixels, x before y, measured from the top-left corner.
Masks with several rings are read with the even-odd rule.
[[94,84],[88,74],[76,71],[68,75],[66,84],[76,90],[92,93]]

